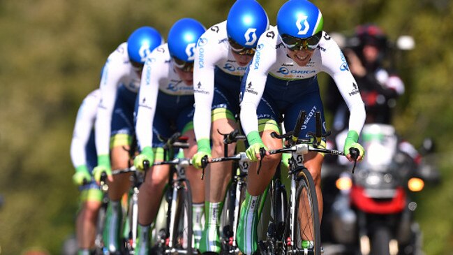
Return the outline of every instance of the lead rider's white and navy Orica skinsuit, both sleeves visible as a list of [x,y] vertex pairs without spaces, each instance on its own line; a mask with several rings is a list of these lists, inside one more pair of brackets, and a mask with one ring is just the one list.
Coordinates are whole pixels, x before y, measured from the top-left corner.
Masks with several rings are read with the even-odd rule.
[[306,66],[298,66],[288,56],[276,27],[270,27],[260,36],[242,83],[241,123],[246,134],[262,131],[265,119],[280,123],[282,115],[285,115],[286,130],[291,130],[299,110],[307,114],[301,136],[314,131],[313,112],[323,112],[317,80],[320,72],[334,79],[350,110],[350,130],[360,133],[366,114],[357,82],[339,46],[327,33],[322,33],[318,48]]

